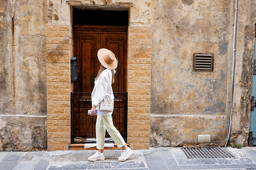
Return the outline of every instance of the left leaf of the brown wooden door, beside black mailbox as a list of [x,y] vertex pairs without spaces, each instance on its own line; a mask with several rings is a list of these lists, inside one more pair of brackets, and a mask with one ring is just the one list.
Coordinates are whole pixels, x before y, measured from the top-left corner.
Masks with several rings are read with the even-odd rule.
[[[96,58],[97,51],[100,49],[101,45],[101,35],[100,34],[75,34],[74,33],[74,57],[77,57],[77,81],[74,81],[74,91],[75,92],[86,92],[90,93],[93,91],[94,78],[96,73]],[[88,89],[88,90],[86,90]],[[83,97],[78,101],[78,98],[74,99],[74,110],[73,110],[73,127],[74,136],[79,136],[82,138],[84,136],[96,137],[95,123],[96,118],[87,115],[87,110],[84,106],[92,108],[91,101],[83,101],[84,98],[91,98],[90,95],[84,96],[84,94],[79,94]],[[81,109],[83,108],[83,109]]]

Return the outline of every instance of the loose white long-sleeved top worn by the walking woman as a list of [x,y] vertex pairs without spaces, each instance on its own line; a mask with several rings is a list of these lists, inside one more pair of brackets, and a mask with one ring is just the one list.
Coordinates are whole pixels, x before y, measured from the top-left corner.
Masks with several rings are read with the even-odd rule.
[[[114,70],[114,73],[116,71]],[[112,112],[105,112],[99,110],[99,103],[103,101],[105,95],[109,95],[111,102],[114,103],[114,94],[112,90],[112,71],[105,69],[99,76],[99,78],[94,82],[94,90],[92,92],[92,104],[96,106],[99,116],[111,115]]]

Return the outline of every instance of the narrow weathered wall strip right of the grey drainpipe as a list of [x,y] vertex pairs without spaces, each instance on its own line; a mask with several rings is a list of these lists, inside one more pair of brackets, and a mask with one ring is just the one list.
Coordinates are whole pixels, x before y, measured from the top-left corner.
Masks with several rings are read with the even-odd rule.
[[255,1],[238,1],[237,51],[230,143],[247,145],[255,36]]

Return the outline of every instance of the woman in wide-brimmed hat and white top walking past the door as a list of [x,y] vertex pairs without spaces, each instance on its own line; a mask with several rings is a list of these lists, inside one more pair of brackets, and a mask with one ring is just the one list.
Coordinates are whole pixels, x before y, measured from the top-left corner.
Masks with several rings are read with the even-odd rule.
[[90,156],[88,160],[104,160],[104,142],[106,129],[114,142],[120,148],[123,148],[121,156],[118,158],[119,161],[125,161],[131,154],[132,150],[126,146],[126,143],[121,136],[120,132],[113,125],[112,113],[113,109],[110,112],[100,111],[99,105],[104,100],[105,96],[110,97],[111,103],[114,104],[114,94],[111,84],[114,83],[114,75],[116,73],[115,69],[117,68],[118,60],[116,59],[114,53],[108,49],[100,49],[98,51],[98,59],[101,63],[100,71],[95,78],[95,86],[92,92],[92,109],[91,115],[96,115],[96,110],[98,110],[98,116],[96,121],[96,142],[98,151]]

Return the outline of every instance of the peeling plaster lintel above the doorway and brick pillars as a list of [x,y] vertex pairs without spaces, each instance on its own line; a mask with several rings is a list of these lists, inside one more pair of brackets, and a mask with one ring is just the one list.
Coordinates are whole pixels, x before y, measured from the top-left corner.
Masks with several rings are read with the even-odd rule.
[[[152,22],[151,20],[151,0],[47,0],[48,1],[48,23],[54,24],[66,24],[70,21],[70,16],[67,14],[68,6],[70,5],[81,5],[81,6],[91,6],[86,8],[92,8],[93,5],[101,6],[101,9],[117,9],[117,7],[129,7],[130,10],[130,26],[149,26]],[[50,5],[52,4],[52,5]],[[104,7],[103,7],[104,6]]]

